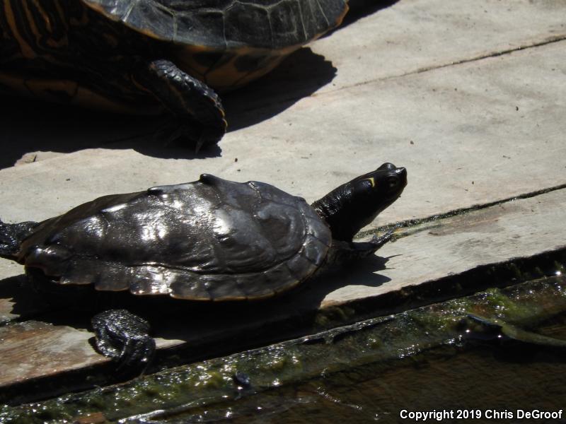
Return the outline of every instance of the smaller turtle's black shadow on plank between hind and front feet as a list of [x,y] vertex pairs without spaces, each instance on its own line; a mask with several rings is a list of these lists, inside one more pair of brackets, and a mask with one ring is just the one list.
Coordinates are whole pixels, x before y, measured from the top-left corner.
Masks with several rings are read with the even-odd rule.
[[186,348],[190,360],[257,348],[320,330],[316,329],[316,316],[325,298],[348,285],[375,288],[388,283],[391,279],[379,273],[386,269],[387,261],[371,257],[352,266],[326,269],[287,293],[264,300],[181,300],[178,306],[185,311],[183,322],[173,309],[168,309],[168,314],[146,316],[154,325],[155,336],[184,341],[180,349]]

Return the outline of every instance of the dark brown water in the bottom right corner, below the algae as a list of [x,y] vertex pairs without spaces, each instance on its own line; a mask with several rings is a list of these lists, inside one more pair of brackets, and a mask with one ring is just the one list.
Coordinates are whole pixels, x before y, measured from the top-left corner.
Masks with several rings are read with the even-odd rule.
[[[566,338],[564,329],[561,320],[546,330]],[[291,387],[207,406],[168,422],[417,422],[403,420],[401,411],[406,411],[405,417],[410,411],[436,411],[429,422],[438,422],[434,418],[439,417],[444,423],[566,422],[518,419],[521,411],[524,416],[533,410],[553,411],[558,416],[558,411],[566,407],[565,353],[514,341],[444,346],[395,365],[371,363],[349,368]],[[446,411],[444,415],[440,415],[442,411]]]

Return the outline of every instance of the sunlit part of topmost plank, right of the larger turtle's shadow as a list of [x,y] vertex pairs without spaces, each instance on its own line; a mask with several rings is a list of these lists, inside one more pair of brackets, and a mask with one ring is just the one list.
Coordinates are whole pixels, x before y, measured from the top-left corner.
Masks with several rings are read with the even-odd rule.
[[322,92],[566,37],[560,0],[400,0],[318,40],[337,76]]

